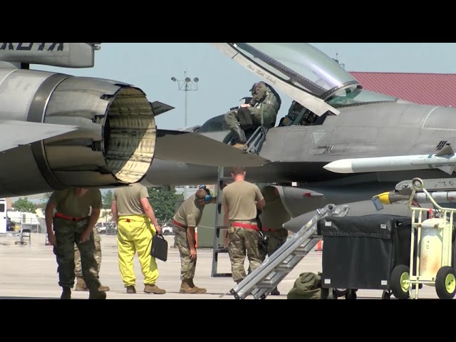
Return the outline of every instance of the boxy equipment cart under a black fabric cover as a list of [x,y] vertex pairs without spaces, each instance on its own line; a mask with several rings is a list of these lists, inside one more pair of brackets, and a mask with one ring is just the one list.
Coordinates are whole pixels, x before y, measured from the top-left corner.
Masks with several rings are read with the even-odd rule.
[[357,289],[378,289],[389,299],[394,270],[410,262],[411,225],[410,217],[388,214],[320,219],[321,298],[356,299]]

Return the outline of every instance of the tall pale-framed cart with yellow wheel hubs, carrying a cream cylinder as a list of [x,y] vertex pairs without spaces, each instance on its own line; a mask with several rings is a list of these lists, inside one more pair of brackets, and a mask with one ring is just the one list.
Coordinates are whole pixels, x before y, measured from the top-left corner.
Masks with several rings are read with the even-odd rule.
[[[408,206],[412,210],[409,263],[398,264],[391,274],[391,289],[399,299],[418,299],[420,285],[435,286],[440,299],[452,299],[456,294],[455,228],[453,215],[456,209],[438,205],[427,190],[423,180],[414,178],[413,192]],[[415,207],[416,192],[424,192],[434,209]],[[423,214],[430,214],[423,220]],[[418,216],[418,217],[417,217]],[[416,238],[415,238],[416,237]],[[418,241],[418,244],[413,242]],[[410,272],[410,269],[413,270]]]

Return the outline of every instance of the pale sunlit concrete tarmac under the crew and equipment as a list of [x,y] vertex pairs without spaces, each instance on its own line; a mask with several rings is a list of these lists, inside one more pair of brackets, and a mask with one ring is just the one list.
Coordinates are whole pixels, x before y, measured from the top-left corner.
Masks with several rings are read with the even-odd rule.
[[[194,282],[207,289],[206,294],[180,294],[180,257],[173,247],[174,237],[165,237],[169,244],[168,259],[157,260],[160,272],[157,286],[167,291],[166,294],[145,294],[143,276],[138,257],[135,257],[137,294],[126,294],[118,270],[118,252],[115,235],[102,235],[103,261],[100,281],[109,286],[107,299],[234,299],[229,290],[235,286],[229,277],[212,277],[212,249],[198,249],[198,261]],[[59,299],[61,287],[58,286],[56,257],[53,247],[46,246],[45,234],[31,234],[31,243],[16,244],[19,237],[12,234],[0,234],[0,299]],[[246,258],[247,259],[247,258]],[[246,269],[248,267],[246,261]],[[321,271],[321,252],[312,251],[279,284],[280,296],[267,296],[266,299],[286,299],[286,294],[293,288],[294,281],[305,271]],[[217,273],[230,273],[228,254],[219,254]],[[358,290],[358,299],[381,299],[381,290]],[[435,288],[423,286],[420,299],[437,299]],[[88,299],[86,291],[72,291],[73,299]],[[248,296],[247,299],[253,299]],[[394,297],[392,296],[392,299]]]

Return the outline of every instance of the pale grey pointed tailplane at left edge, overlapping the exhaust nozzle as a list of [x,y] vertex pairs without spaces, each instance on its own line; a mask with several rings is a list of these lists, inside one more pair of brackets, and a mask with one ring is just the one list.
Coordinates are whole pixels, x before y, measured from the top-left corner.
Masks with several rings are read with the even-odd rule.
[[17,120],[0,120],[0,151],[10,150],[19,145],[43,140],[78,129],[73,125],[51,123],[30,123]]

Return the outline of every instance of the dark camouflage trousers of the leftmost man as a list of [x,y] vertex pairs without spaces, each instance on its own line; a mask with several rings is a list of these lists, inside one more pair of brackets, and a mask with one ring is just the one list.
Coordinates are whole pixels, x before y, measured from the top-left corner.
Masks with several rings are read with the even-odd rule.
[[53,253],[58,264],[58,285],[73,288],[75,279],[74,244],[81,253],[81,269],[88,289],[98,289],[98,266],[93,255],[95,242],[93,234],[90,239],[81,244],[81,234],[87,228],[88,219],[70,221],[61,217],[54,217],[53,229],[56,234],[56,247]]

